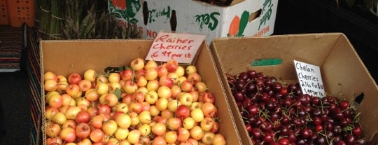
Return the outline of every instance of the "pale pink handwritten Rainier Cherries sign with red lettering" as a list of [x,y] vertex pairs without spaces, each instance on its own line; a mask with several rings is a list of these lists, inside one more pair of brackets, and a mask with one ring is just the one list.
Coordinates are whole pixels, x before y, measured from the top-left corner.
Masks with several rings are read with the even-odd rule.
[[154,39],[146,60],[191,63],[204,39],[204,35],[160,32]]

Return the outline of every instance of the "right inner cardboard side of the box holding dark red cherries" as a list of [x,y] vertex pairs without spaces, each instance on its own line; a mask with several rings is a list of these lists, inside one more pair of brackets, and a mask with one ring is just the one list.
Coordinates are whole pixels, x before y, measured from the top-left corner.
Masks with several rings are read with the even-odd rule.
[[342,34],[321,66],[326,92],[344,100],[363,99],[358,105],[360,123],[371,140],[378,132],[378,87],[346,36]]

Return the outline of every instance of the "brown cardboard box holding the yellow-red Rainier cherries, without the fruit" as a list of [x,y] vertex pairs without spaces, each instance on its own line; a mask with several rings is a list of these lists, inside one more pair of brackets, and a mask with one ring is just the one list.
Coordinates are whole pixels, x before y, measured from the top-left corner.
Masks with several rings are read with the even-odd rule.
[[[41,74],[52,71],[68,77],[70,73],[84,73],[86,69],[94,69],[104,74],[106,67],[127,66],[137,57],[147,55],[153,40],[78,40],[78,41],[41,41]],[[222,120],[219,132],[225,136],[228,144],[241,144],[241,139],[236,129],[235,120],[230,111],[230,103],[225,97],[221,79],[211,57],[211,52],[204,41],[200,46],[197,60],[194,64],[202,81],[216,97],[218,117]],[[41,78],[43,82],[43,75]],[[41,88],[43,89],[43,83]],[[41,90],[45,96],[44,90]],[[42,104],[45,99],[42,97]],[[45,105],[42,105],[42,118]],[[42,130],[45,120],[42,119]],[[46,134],[43,131],[43,144]]]

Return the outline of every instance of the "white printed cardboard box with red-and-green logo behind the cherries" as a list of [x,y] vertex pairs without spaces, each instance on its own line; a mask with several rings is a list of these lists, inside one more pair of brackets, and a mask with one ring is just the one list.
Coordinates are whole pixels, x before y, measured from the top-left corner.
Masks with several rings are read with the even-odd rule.
[[196,0],[142,0],[121,5],[109,1],[120,23],[137,24],[151,39],[161,32],[202,34],[207,42],[218,37],[269,36],[273,33],[278,0],[235,0],[215,6]]

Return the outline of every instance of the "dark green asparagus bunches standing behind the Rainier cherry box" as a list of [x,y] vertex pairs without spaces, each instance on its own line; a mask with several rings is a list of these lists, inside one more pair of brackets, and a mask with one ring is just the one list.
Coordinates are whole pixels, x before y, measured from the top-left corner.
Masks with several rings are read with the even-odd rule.
[[[119,24],[108,0],[36,0],[41,39],[137,39],[137,25]],[[38,9],[37,9],[38,8]]]

